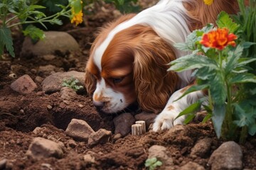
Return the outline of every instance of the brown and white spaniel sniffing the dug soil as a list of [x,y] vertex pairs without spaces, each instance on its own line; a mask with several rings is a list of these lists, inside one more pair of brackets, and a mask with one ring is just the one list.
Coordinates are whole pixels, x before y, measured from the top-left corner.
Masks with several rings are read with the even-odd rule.
[[93,103],[105,113],[117,113],[137,102],[143,111],[159,113],[153,130],[183,124],[178,113],[203,97],[196,91],[180,100],[193,82],[191,71],[167,72],[169,62],[183,56],[174,44],[192,30],[215,23],[220,11],[236,13],[236,0],[161,0],[135,14],[121,16],[102,28],[93,42],[85,71],[85,86]]

